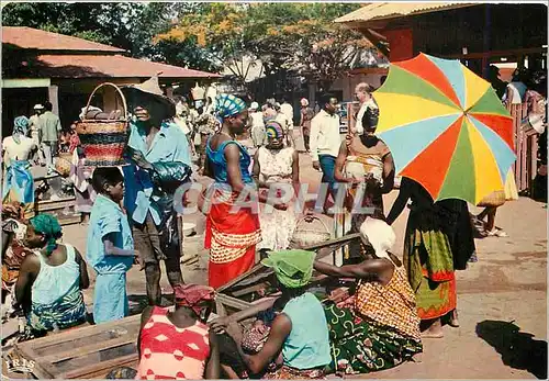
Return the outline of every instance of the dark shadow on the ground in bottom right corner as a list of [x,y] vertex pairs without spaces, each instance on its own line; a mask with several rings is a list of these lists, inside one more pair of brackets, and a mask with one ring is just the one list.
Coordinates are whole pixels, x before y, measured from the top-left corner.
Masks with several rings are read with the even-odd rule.
[[513,322],[483,321],[475,330],[477,336],[502,355],[503,363],[547,379],[547,341],[535,340],[534,335],[520,332]]

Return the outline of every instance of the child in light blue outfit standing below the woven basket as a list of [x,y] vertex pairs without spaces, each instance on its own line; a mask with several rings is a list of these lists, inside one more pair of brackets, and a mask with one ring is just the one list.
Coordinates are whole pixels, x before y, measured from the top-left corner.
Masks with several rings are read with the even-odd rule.
[[98,193],[91,209],[87,259],[97,272],[93,293],[96,324],[128,315],[126,271],[137,253],[126,214],[120,208],[124,178],[119,168],[96,168],[91,179]]

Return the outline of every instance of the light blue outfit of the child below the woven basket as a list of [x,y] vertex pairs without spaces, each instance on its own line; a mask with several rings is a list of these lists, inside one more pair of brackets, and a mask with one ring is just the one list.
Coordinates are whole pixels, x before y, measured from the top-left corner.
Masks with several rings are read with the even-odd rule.
[[130,310],[126,272],[133,265],[133,257],[107,255],[103,245],[107,235],[114,238],[115,247],[134,249],[127,216],[115,202],[99,194],[91,209],[86,254],[98,274],[93,293],[93,320],[97,324],[123,318]]

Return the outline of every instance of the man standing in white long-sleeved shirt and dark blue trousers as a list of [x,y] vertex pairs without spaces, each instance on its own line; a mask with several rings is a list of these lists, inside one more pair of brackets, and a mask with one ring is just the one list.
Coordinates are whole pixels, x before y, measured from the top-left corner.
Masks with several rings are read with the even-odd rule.
[[339,135],[339,115],[336,113],[337,98],[333,94],[321,97],[323,108],[311,121],[311,156],[313,167],[322,170],[322,182],[329,186],[332,198],[336,199],[336,180],[334,178],[336,158],[341,145]]

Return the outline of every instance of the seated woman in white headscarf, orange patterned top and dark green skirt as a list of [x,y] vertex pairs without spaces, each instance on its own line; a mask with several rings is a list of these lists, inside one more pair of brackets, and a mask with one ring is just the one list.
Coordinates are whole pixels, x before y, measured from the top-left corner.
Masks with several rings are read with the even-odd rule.
[[329,368],[345,373],[393,368],[423,350],[414,292],[402,264],[388,251],[395,240],[393,229],[367,217],[360,233],[365,261],[341,267],[314,264],[322,273],[358,280],[352,307],[325,306]]

